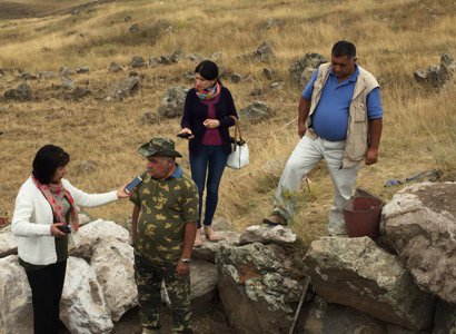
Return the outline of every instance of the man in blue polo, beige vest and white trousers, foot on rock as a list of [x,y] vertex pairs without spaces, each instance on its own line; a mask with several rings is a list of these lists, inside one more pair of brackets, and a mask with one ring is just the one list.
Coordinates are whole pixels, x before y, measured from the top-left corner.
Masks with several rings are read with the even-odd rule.
[[264,223],[293,220],[300,180],[325,159],[335,188],[328,232],[347,234],[341,209],[354,193],[360,161],[377,161],[383,127],[378,82],[356,60],[355,45],[338,41],[331,62],[321,65],[304,89],[298,109],[301,139],[280,177],[272,215]]

